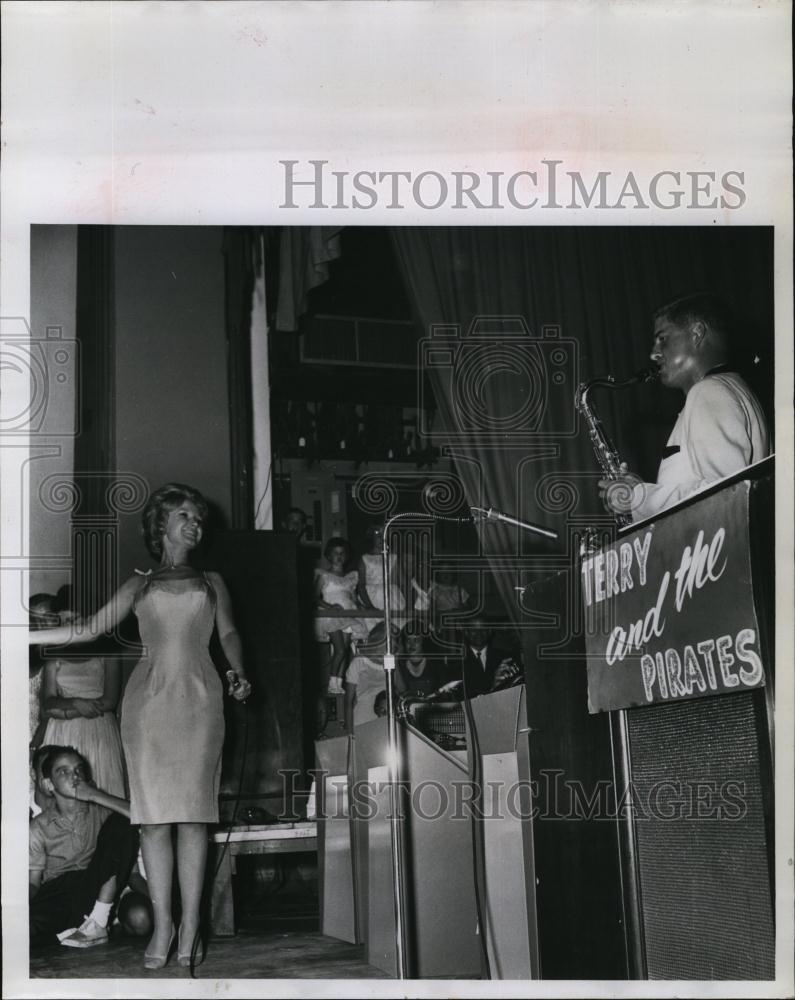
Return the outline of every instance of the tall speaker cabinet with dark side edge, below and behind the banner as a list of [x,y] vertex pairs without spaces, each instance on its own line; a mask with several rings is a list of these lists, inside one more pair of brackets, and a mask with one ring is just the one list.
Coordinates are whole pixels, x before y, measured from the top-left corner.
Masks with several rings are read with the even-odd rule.
[[749,512],[765,687],[611,713],[637,978],[775,978],[773,485],[752,481]]

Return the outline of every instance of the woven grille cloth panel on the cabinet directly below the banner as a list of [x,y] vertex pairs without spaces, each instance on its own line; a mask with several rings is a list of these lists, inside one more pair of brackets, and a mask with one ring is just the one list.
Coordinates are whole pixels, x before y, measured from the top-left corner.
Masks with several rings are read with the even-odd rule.
[[[774,977],[752,697],[742,693],[627,712],[636,801],[645,807],[657,789],[661,807],[652,810],[656,818],[635,824],[650,979]],[[671,811],[675,794],[661,782],[681,788],[681,818],[660,818],[661,810]],[[726,802],[727,782],[740,785],[745,815],[698,818],[697,807],[687,804],[698,782],[709,783],[702,798],[716,790],[717,804]]]

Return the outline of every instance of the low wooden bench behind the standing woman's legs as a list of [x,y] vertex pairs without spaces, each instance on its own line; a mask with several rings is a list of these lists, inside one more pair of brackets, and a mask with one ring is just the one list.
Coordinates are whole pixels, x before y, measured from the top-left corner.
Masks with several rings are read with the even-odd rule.
[[301,851],[316,853],[317,823],[304,821],[271,823],[267,826],[233,826],[231,831],[227,827],[213,831],[210,842],[215,848],[208,859],[208,864],[213,866],[212,871],[215,872],[210,895],[210,931],[214,937],[231,937],[235,933],[232,875],[236,871],[237,855],[295,854]]

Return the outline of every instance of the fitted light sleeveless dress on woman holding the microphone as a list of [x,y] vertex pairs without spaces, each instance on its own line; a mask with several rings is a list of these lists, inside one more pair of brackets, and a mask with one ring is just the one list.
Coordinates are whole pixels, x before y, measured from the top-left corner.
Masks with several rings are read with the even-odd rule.
[[223,684],[209,654],[215,591],[204,576],[147,580],[133,610],[144,657],[124,692],[131,823],[217,823]]

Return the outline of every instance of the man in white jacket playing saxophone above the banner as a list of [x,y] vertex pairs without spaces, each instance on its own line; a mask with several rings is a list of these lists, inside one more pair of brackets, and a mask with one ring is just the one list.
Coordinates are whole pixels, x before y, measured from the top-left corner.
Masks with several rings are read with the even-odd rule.
[[[654,314],[651,359],[663,385],[684,393],[655,483],[644,483],[622,464],[634,521],[651,517],[766,458],[767,424],[759,400],[729,364],[731,322],[725,304],[708,293],[673,300]],[[617,513],[621,493],[608,492],[615,479],[601,479],[603,501]]]

